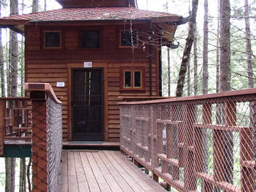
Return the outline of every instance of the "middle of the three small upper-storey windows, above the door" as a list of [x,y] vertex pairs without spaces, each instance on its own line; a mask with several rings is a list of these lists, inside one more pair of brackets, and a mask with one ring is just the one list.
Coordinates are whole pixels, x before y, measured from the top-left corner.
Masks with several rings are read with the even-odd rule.
[[100,31],[99,30],[81,31],[81,47],[83,49],[99,49],[100,48]]

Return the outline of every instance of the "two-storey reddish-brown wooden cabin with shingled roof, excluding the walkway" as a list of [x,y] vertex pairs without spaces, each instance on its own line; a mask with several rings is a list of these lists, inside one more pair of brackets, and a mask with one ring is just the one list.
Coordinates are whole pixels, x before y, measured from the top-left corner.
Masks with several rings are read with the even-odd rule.
[[184,21],[134,0],[56,1],[62,9],[0,19],[25,36],[25,82],[51,83],[63,141],[119,141],[118,97],[161,96],[161,46]]

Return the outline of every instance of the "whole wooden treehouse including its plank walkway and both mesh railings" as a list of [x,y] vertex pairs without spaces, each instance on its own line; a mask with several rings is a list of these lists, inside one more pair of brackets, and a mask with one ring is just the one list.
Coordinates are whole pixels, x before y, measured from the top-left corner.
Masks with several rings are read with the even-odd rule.
[[[176,47],[186,20],[132,0],[58,2],[0,19],[26,38],[28,96],[0,99],[0,157],[32,157],[33,192],[164,191],[159,177],[178,191],[256,191],[255,88],[160,97],[161,46]],[[133,164],[62,148],[119,140]]]

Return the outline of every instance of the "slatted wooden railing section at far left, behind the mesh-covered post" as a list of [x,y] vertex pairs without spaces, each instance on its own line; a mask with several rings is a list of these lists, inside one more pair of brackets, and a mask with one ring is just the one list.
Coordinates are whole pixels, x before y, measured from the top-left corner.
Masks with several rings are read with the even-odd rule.
[[29,97],[0,98],[0,156],[4,143],[31,145],[31,102]]

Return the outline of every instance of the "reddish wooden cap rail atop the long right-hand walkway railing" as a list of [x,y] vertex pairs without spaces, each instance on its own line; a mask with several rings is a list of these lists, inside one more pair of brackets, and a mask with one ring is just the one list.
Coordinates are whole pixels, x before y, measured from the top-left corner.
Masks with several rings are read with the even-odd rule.
[[209,94],[205,94],[205,95],[196,95],[196,96],[189,96],[189,97],[174,97],[171,99],[145,100],[145,101],[138,101],[138,102],[119,102],[118,104],[119,105],[156,104],[156,103],[164,103],[164,102],[204,100],[204,99],[234,97],[234,96],[252,95],[252,94],[256,94],[256,88],[229,91],[229,92],[220,92],[220,93],[209,93]]

